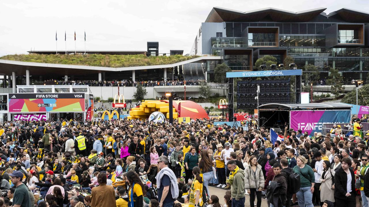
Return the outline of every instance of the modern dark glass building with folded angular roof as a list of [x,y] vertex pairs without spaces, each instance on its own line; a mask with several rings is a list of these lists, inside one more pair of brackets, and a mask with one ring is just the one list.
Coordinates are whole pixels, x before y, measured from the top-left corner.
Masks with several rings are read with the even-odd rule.
[[313,64],[328,77],[338,69],[345,81],[365,80],[369,72],[369,13],[348,8],[292,12],[276,8],[235,11],[214,7],[196,34],[190,55],[221,56],[232,70],[253,68],[265,55],[298,68]]

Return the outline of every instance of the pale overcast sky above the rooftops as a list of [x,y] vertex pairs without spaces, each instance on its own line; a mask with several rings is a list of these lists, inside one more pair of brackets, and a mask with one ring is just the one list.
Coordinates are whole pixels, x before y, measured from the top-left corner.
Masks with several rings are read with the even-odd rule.
[[0,3],[0,56],[26,51],[84,49],[146,50],[147,41],[159,41],[159,53],[170,49],[189,53],[200,23],[213,7],[249,11],[266,7],[289,11],[325,7],[368,11],[367,0],[211,0],[211,1],[95,1],[3,0]]

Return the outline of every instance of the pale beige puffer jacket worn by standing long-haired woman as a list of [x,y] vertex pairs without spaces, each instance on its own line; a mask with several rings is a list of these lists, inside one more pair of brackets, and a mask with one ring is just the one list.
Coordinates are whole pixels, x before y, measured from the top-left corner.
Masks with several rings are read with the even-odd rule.
[[256,177],[251,169],[251,166],[247,166],[244,170],[245,173],[245,189],[248,191],[251,188],[263,189],[264,188],[264,175],[261,169],[261,165],[256,166]]

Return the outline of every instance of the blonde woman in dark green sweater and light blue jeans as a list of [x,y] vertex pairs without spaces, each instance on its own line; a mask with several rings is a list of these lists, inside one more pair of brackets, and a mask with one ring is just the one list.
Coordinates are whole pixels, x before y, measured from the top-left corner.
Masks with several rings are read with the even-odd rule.
[[315,176],[313,169],[306,165],[307,160],[304,156],[296,159],[297,165],[294,166],[293,172],[300,175],[300,190],[296,193],[300,207],[313,207],[313,193],[315,185]]

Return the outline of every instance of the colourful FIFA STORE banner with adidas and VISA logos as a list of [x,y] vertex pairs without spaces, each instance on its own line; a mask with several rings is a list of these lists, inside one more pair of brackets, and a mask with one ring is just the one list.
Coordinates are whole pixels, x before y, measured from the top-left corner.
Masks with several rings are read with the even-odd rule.
[[84,93],[9,94],[9,112],[84,112]]

